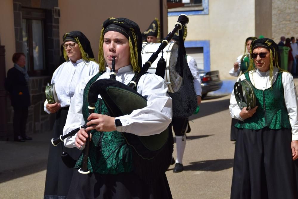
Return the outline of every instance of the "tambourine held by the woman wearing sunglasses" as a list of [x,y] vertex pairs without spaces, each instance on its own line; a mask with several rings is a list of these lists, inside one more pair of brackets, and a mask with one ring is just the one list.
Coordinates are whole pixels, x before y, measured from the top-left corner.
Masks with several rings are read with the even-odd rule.
[[246,110],[250,110],[256,106],[256,97],[252,84],[247,80],[239,80],[234,85],[234,94],[238,106],[242,110],[246,107]]

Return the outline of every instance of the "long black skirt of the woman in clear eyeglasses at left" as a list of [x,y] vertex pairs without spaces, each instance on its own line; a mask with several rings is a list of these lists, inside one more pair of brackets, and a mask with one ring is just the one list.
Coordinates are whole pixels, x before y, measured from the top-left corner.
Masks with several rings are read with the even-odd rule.
[[[57,138],[63,134],[63,127],[66,122],[68,108],[69,107],[61,108],[56,113],[52,138]],[[61,159],[61,145],[63,146],[64,151],[66,151],[75,160],[78,159],[78,157],[81,154],[81,151],[77,148],[65,148],[63,142],[58,144],[56,147],[54,147],[51,143],[49,145],[50,147],[48,165],[46,169],[46,184],[44,189],[44,198],[66,198],[72,180],[72,174],[76,169],[68,168],[63,163]]]

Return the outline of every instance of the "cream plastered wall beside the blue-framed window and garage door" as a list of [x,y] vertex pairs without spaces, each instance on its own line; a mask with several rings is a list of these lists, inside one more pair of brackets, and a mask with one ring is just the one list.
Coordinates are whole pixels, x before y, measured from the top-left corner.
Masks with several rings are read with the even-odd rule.
[[[235,79],[229,70],[244,53],[245,39],[255,36],[254,0],[210,0],[209,14],[189,15],[186,41],[210,41],[210,69],[219,70],[221,79]],[[168,17],[172,30],[178,16]]]

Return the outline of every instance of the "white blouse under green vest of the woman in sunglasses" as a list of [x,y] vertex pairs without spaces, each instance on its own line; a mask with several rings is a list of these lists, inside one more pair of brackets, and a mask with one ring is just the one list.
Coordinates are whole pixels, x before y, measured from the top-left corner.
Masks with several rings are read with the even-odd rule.
[[[276,80],[277,74],[278,69],[274,67],[273,83]],[[256,69],[255,71],[249,71],[249,78],[251,80],[252,85],[259,90],[265,90],[271,87],[271,81],[269,80],[269,71],[260,72],[258,71],[258,69]],[[242,74],[240,77],[238,77],[237,81],[239,81],[240,79],[246,79],[245,75]],[[290,124],[292,127],[292,140],[298,140],[298,99],[293,76],[288,72],[283,72],[282,82],[284,88],[285,106],[287,108]],[[235,99],[234,90],[232,91],[229,109],[232,118],[243,121],[243,119],[239,115],[241,109],[239,108]]]

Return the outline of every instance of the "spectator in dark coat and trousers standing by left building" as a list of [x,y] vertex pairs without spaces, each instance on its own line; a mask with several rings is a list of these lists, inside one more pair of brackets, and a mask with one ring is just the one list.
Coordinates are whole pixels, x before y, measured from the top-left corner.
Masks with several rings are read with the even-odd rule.
[[13,106],[13,136],[14,141],[25,142],[32,140],[26,136],[26,123],[28,107],[30,106],[30,94],[28,89],[29,75],[27,73],[26,57],[22,52],[13,54],[13,68],[7,72],[5,90],[9,93]]

